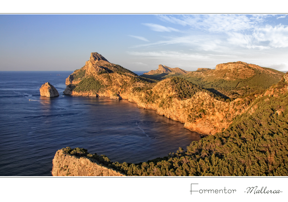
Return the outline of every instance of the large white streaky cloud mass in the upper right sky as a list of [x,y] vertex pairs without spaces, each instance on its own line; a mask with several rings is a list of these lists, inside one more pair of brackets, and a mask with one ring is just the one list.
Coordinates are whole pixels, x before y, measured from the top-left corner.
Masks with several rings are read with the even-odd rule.
[[[287,26],[281,24],[263,26],[263,22],[270,17],[272,15],[157,15],[157,18],[163,22],[189,26],[193,30],[198,30],[198,33],[204,32],[205,34],[193,35],[191,30],[181,31],[186,36],[166,37],[167,40],[139,44],[132,48],[182,44],[193,46],[192,49],[194,50],[221,52],[222,50],[231,50],[231,48],[235,48],[234,46],[258,50],[288,47]],[[146,23],[144,25],[149,26],[154,31],[167,32],[174,29],[158,24]],[[209,32],[215,34],[211,36]]]

